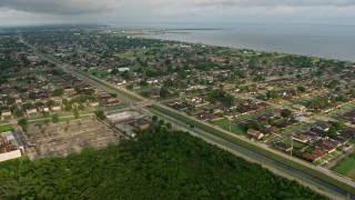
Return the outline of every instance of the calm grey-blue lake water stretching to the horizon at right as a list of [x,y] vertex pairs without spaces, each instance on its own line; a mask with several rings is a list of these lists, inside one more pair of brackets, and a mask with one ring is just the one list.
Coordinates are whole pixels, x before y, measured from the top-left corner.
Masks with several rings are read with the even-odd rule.
[[[134,28],[143,28],[136,24]],[[355,61],[355,26],[346,24],[146,24],[176,29],[145,38]],[[187,29],[187,30],[179,30]],[[189,30],[214,29],[214,30]]]

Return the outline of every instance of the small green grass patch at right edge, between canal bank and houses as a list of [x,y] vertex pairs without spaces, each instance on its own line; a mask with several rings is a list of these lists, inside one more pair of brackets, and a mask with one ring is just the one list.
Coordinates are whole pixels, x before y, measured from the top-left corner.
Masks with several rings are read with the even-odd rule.
[[333,171],[344,174],[355,180],[355,153],[341,160],[334,168]]

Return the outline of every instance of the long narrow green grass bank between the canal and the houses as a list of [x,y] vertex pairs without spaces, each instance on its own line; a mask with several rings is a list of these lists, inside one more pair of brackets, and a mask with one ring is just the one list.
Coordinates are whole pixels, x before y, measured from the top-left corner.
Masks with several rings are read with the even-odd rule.
[[185,123],[187,123],[187,124],[190,124],[190,126],[196,127],[196,128],[202,129],[202,130],[204,130],[204,131],[207,131],[207,132],[210,132],[210,133],[212,133],[212,134],[215,134],[215,136],[217,136],[217,137],[221,137],[221,138],[223,138],[223,139],[225,139],[225,140],[232,141],[232,142],[234,142],[234,143],[236,143],[236,144],[239,144],[239,146],[241,146],[241,147],[244,147],[244,148],[246,148],[246,149],[251,149],[251,150],[253,150],[253,151],[255,151],[255,152],[257,152],[257,153],[260,153],[260,154],[263,154],[263,156],[265,156],[265,157],[268,157],[268,158],[271,158],[271,159],[274,159],[274,160],[276,160],[276,161],[278,161],[278,162],[281,162],[281,163],[284,163],[284,164],[286,164],[286,166],[290,166],[290,167],[293,167],[293,168],[295,168],[295,169],[298,169],[298,170],[301,170],[301,171],[303,171],[303,172],[305,172],[305,173],[308,173],[308,174],[311,174],[311,176],[314,176],[314,177],[316,177],[316,178],[318,178],[318,179],[322,179],[322,180],[324,180],[324,181],[326,181],[326,182],[331,182],[331,183],[333,183],[334,186],[337,186],[338,188],[342,188],[343,190],[346,190],[346,191],[348,191],[348,192],[355,193],[355,188],[354,188],[354,186],[349,186],[349,184],[346,184],[346,183],[344,183],[344,182],[341,182],[341,181],[338,181],[338,180],[336,180],[336,179],[333,179],[333,178],[324,174],[323,172],[313,170],[313,169],[311,169],[311,168],[308,168],[308,167],[306,167],[306,166],[304,166],[304,164],[302,164],[302,163],[298,163],[298,162],[296,162],[296,161],[293,161],[293,160],[286,159],[286,158],[284,158],[284,157],[281,157],[281,156],[278,156],[278,154],[275,154],[275,153],[273,153],[273,152],[271,152],[271,151],[268,151],[268,150],[266,150],[266,149],[258,148],[256,144],[253,144],[253,143],[243,141],[243,140],[241,140],[241,139],[239,139],[239,138],[229,136],[229,134],[226,134],[226,133],[224,133],[224,132],[222,132],[222,131],[220,131],[220,130],[216,130],[216,129],[214,129],[214,128],[212,128],[212,127],[207,127],[207,126],[205,126],[205,124],[203,124],[203,123],[201,123],[201,122],[199,122],[199,121],[196,121],[196,120],[186,118],[186,117],[184,117],[184,116],[181,116],[181,114],[178,113],[178,112],[168,110],[168,109],[165,109],[165,108],[162,108],[162,107],[159,107],[159,106],[153,106],[152,109],[158,110],[158,111],[160,111],[160,112],[162,112],[162,113],[164,113],[164,114],[168,114],[168,116],[170,116],[170,117],[173,117],[173,118],[175,118],[175,119],[178,119],[178,120],[180,120],[180,121],[183,121],[183,122],[185,122]]

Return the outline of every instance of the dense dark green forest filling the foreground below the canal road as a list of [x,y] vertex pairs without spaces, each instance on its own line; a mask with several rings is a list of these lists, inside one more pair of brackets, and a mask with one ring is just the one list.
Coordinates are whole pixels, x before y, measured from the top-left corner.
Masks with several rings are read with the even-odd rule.
[[326,199],[160,126],[103,150],[14,163],[0,164],[0,199]]

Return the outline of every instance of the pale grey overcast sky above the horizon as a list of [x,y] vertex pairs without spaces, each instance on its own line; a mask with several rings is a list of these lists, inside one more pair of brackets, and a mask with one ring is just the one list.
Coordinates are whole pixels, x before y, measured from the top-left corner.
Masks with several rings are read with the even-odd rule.
[[0,26],[211,21],[355,24],[355,0],[0,0]]

